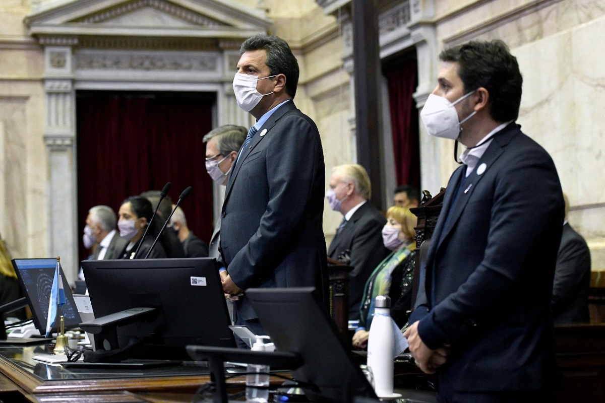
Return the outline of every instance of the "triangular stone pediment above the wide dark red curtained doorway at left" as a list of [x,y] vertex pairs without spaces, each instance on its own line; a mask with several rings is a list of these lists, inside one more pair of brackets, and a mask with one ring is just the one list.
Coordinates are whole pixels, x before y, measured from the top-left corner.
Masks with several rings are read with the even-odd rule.
[[54,0],[25,18],[37,37],[240,39],[266,32],[262,10],[231,0]]

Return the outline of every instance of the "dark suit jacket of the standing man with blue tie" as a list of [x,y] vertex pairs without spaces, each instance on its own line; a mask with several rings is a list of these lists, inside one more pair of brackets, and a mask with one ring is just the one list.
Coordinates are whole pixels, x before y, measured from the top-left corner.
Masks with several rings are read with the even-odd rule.
[[[325,167],[315,123],[286,102],[239,154],[221,214],[231,279],[244,291],[315,286],[325,298]],[[245,295],[235,309],[244,320],[257,318]]]

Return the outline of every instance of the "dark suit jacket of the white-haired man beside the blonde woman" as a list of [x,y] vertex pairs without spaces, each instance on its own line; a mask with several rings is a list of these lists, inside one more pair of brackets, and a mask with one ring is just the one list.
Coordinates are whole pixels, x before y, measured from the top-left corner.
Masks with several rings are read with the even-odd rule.
[[382,262],[388,249],[382,241],[382,228],[387,219],[370,201],[353,213],[340,233],[330,242],[328,256],[336,259],[344,251],[351,252],[353,267],[348,283],[348,318],[359,319],[359,304],[364,295],[365,282]]

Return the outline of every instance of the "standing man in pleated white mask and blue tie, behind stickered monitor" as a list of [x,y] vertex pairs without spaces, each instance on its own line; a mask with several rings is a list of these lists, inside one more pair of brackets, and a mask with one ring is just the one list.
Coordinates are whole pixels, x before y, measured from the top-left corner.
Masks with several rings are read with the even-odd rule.
[[225,190],[223,290],[235,296],[244,292],[235,303],[235,324],[265,334],[247,288],[314,286],[327,304],[325,167],[318,129],[292,100],[299,69],[289,45],[259,34],[247,39],[240,53],[235,97],[256,123]]

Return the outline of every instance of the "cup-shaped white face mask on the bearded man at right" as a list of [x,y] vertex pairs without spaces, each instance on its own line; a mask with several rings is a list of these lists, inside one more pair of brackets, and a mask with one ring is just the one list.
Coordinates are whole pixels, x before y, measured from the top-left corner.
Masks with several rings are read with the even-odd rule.
[[453,103],[438,95],[428,95],[427,102],[420,112],[420,118],[422,118],[422,123],[424,123],[424,126],[427,128],[428,134],[434,137],[456,140],[462,130],[460,125],[473,117],[477,111],[473,111],[472,114],[459,122],[458,112],[456,111],[456,108],[454,108],[454,105],[468,97],[468,95],[473,94],[473,92],[474,91],[471,91],[462,95],[462,97],[458,98]]

